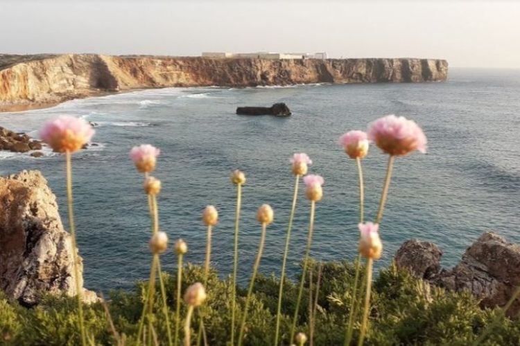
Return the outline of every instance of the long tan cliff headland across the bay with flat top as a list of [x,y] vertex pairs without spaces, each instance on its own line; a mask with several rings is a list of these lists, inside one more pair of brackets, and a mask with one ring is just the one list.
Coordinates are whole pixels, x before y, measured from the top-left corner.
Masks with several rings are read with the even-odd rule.
[[0,104],[62,102],[103,92],[166,86],[433,82],[445,60],[261,60],[107,55],[0,55]]

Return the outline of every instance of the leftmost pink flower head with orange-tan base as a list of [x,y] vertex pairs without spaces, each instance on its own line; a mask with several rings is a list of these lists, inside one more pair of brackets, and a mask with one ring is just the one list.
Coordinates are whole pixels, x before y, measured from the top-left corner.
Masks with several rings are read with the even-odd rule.
[[94,129],[83,119],[59,116],[47,122],[40,137],[55,152],[76,152],[94,136]]

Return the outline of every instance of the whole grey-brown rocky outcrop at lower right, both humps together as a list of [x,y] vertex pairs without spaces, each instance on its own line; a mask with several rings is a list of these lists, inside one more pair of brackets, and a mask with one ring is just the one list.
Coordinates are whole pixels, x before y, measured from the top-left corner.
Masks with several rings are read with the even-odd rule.
[[[435,244],[411,240],[399,248],[395,262],[436,286],[470,291],[481,299],[482,307],[503,307],[520,285],[520,246],[494,233],[481,235],[451,270],[440,269],[441,255]],[[518,316],[519,312],[517,299],[508,315]]]

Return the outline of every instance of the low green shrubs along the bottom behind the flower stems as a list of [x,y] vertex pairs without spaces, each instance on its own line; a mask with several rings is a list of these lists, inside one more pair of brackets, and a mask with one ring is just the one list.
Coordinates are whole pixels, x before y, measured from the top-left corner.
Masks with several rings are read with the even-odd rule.
[[[327,262],[318,277],[318,265],[310,263],[313,279],[313,297],[320,278],[318,307],[315,313],[314,345],[343,345],[352,297],[349,287],[354,282],[354,266],[346,262]],[[176,273],[164,273],[164,284],[170,310],[175,318]],[[204,268],[187,265],[183,273],[184,291],[189,284],[202,281]],[[297,283],[286,280],[282,300],[281,342],[289,345],[288,334],[295,309]],[[148,284],[140,282],[134,291],[112,291],[107,307],[114,329],[102,303],[84,307],[85,327],[89,340],[97,345],[134,345],[139,318],[143,309]],[[276,277],[259,275],[254,285],[246,326],[245,345],[272,345],[277,313]],[[220,280],[216,271],[210,271],[207,282],[208,298],[204,304],[205,331],[209,345],[225,345],[230,338],[229,309],[232,287],[230,280]],[[236,318],[243,316],[244,289],[237,290]],[[157,294],[160,294],[157,293]],[[407,271],[390,266],[379,273],[372,287],[370,327],[365,345],[470,345],[485,326],[499,318],[499,323],[485,338],[484,345],[518,345],[520,321],[501,316],[499,309],[483,310],[478,300],[469,293],[447,292],[429,287]],[[166,345],[167,331],[162,313],[162,298],[155,300],[155,334],[160,345]],[[309,280],[306,280],[298,318],[297,331],[309,336]],[[0,294],[0,345],[79,345],[77,302],[75,298],[47,296],[31,309],[21,307]],[[186,305],[182,304],[182,316]],[[356,321],[361,321],[356,316]],[[192,335],[198,330],[199,315],[192,322]],[[237,328],[239,326],[236,326]],[[352,345],[356,345],[359,322],[354,325]],[[235,331],[237,334],[237,331]],[[180,330],[180,335],[183,331]]]

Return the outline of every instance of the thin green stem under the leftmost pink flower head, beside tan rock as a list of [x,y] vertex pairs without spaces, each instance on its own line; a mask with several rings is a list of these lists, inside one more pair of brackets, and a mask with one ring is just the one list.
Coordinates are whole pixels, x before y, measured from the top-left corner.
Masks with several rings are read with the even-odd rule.
[[87,345],[87,334],[83,319],[83,297],[80,285],[80,271],[78,268],[78,245],[76,244],[76,226],[74,224],[73,197],[72,197],[72,163],[71,152],[65,152],[67,162],[67,206],[69,208],[69,228],[71,232],[72,261],[74,262],[74,283],[76,284],[76,297],[78,298],[78,318],[80,320],[81,344]]

